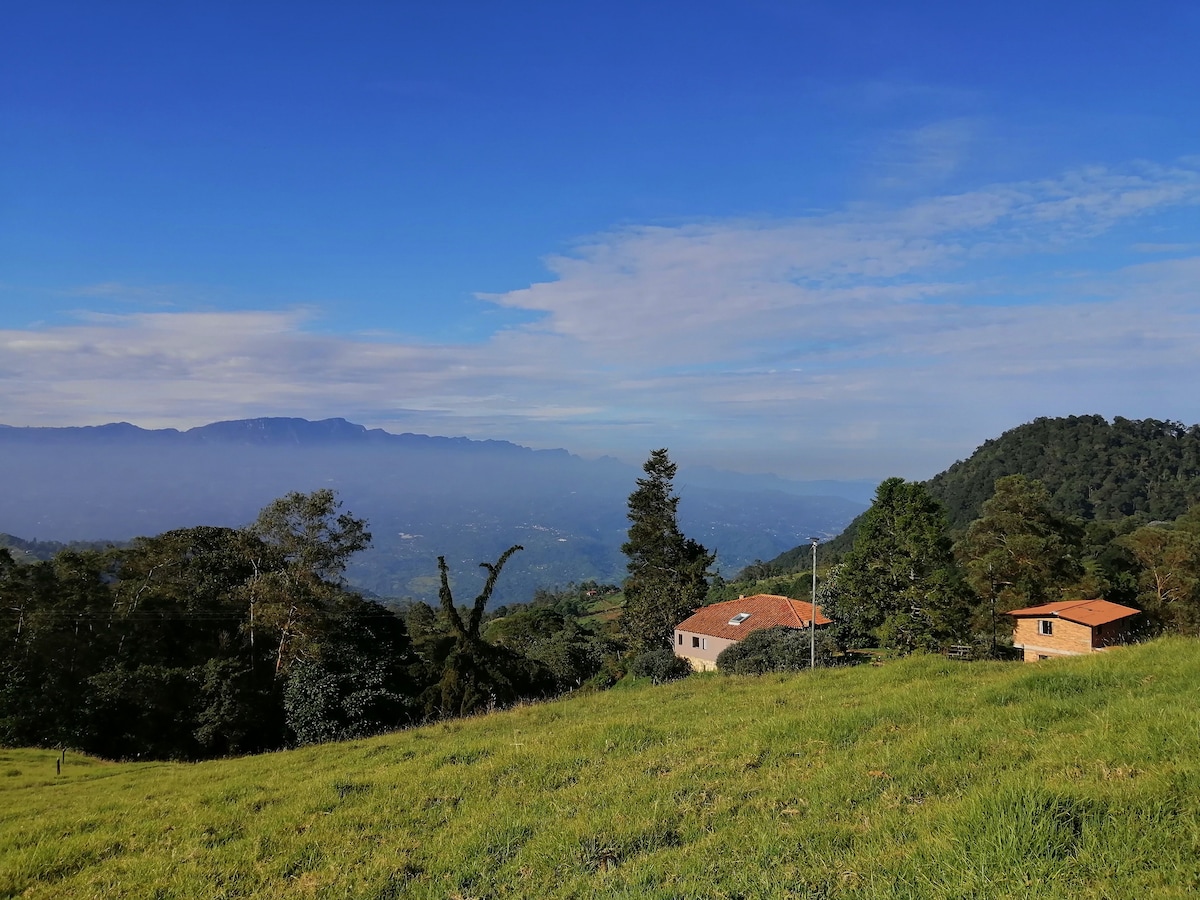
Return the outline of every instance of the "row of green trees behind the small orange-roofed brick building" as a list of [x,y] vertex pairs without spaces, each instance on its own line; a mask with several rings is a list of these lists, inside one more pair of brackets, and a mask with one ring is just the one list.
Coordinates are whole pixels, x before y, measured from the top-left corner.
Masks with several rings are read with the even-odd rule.
[[1087,522],[1061,515],[1040,481],[1008,475],[952,534],[925,485],[880,485],[852,548],[818,582],[836,643],[996,652],[1009,642],[1004,612],[1096,598],[1141,610],[1142,634],[1200,634],[1200,506],[1170,522]]

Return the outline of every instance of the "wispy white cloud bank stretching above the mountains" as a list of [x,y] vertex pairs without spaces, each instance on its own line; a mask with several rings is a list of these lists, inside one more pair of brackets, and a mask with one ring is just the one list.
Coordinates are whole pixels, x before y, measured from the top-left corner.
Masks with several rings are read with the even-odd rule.
[[[344,415],[799,478],[928,476],[1037,415],[1200,420],[1192,164],[1085,169],[900,209],[601,234],[481,344],[296,312],[0,331],[0,421]],[[1158,254],[1162,258],[1150,258]],[[108,293],[113,286],[106,286]]]

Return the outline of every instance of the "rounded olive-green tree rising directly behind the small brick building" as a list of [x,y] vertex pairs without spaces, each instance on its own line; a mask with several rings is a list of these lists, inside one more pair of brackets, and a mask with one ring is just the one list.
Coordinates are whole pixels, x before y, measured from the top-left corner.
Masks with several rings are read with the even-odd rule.
[[1084,575],[1082,532],[1054,511],[1040,481],[997,479],[982,512],[955,550],[976,594],[997,611],[1057,600]]

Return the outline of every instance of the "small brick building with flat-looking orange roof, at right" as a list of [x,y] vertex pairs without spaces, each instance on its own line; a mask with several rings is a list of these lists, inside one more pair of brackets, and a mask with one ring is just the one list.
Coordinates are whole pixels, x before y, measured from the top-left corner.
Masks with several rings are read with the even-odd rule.
[[1025,661],[1099,653],[1128,643],[1129,624],[1140,610],[1108,600],[1060,600],[1008,614],[1016,622],[1013,646]]

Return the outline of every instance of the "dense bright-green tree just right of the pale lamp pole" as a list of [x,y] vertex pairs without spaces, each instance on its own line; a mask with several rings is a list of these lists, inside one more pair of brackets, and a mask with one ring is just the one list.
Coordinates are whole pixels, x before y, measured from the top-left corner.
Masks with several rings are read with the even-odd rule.
[[968,607],[946,512],[918,482],[880,485],[823,610],[842,646],[934,649],[966,631]]

